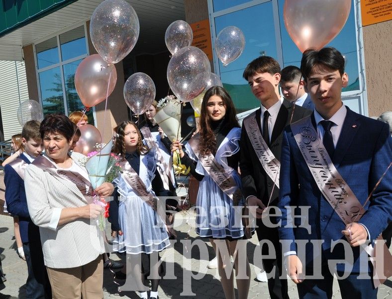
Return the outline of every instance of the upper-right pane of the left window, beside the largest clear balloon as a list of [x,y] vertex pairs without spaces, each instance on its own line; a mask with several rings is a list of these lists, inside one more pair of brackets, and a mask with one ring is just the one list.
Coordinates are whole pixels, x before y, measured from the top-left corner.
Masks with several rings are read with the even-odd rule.
[[84,26],[60,34],[59,38],[62,61],[87,53]]

